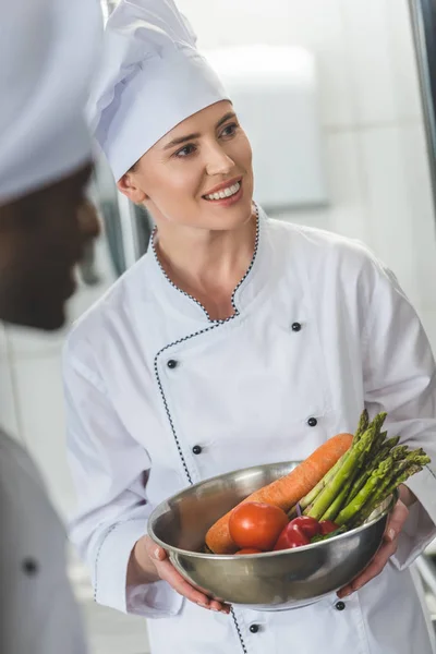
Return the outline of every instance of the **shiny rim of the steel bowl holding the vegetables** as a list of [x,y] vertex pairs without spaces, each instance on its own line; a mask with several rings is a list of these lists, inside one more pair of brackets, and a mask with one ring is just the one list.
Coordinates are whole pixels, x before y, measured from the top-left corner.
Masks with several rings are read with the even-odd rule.
[[[194,488],[202,486],[205,483],[208,482],[214,482],[215,480],[219,480],[221,477],[226,477],[227,475],[234,475],[237,473],[242,473],[242,472],[250,472],[251,470],[256,470],[259,468],[265,468],[265,467],[274,467],[274,465],[286,465],[286,464],[295,464],[295,467],[301,463],[301,461],[278,461],[276,463],[265,463],[264,465],[252,465],[250,468],[240,468],[230,472],[227,472],[225,474],[218,474],[215,475],[214,477],[209,477],[207,480],[203,480],[201,482],[197,482],[196,484],[193,484],[192,486],[187,486],[186,488],[183,488],[183,491],[180,491],[179,493],[175,493],[174,495],[172,495],[171,497],[162,500],[161,502],[159,502],[154,510],[152,511],[150,516],[148,517],[147,520],[147,534],[148,536],[152,538],[152,541],[154,541],[157,545],[160,545],[160,547],[162,547],[166,552],[170,552],[170,553],[177,553],[183,556],[195,556],[196,558],[202,558],[202,559],[211,559],[211,560],[216,560],[217,558],[219,558],[219,560],[241,560],[250,557],[250,560],[253,559],[258,559],[258,558],[266,558],[266,557],[272,557],[272,556],[281,556],[281,555],[290,555],[293,553],[299,553],[299,552],[305,552],[307,549],[314,549],[316,547],[320,547],[323,545],[332,543],[332,542],[337,542],[340,540],[344,540],[347,537],[349,537],[351,534],[359,534],[362,531],[365,531],[367,528],[370,528],[371,525],[375,524],[376,522],[378,522],[379,520],[382,520],[383,518],[385,518],[385,516],[387,516],[392,508],[395,507],[395,505],[397,504],[399,494],[398,494],[398,489],[395,489],[385,500],[383,504],[386,504],[385,508],[383,509],[383,511],[376,516],[375,518],[373,518],[372,520],[367,520],[366,522],[364,522],[363,524],[361,524],[360,526],[356,526],[354,529],[351,529],[350,531],[347,531],[342,534],[338,534],[337,536],[331,536],[331,538],[326,538],[325,541],[319,541],[318,543],[310,543],[308,545],[302,545],[300,547],[295,547],[293,549],[280,549],[278,552],[262,552],[259,554],[246,554],[244,555],[244,557],[241,557],[241,555],[237,555],[237,554],[209,554],[209,553],[205,553],[205,552],[194,552],[192,549],[182,549],[181,547],[175,547],[174,545],[170,545],[169,543],[165,543],[165,541],[162,541],[161,538],[159,538],[153,528],[152,528],[152,523],[154,522],[154,518],[155,516],[161,511],[161,507],[165,504],[170,502],[171,500],[178,498],[180,495],[182,495],[183,493],[187,493],[189,491],[193,491]],[[241,500],[243,501],[243,500]],[[238,506],[238,505],[237,505]]]

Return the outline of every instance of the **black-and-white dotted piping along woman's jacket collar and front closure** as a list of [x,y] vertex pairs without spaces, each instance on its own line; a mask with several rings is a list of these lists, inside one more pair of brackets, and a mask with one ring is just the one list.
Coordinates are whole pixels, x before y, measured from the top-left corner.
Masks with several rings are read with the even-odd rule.
[[[253,257],[252,257],[251,264],[250,264],[250,266],[249,266],[249,268],[247,268],[247,270],[246,270],[245,275],[244,275],[244,276],[243,276],[243,278],[241,279],[241,281],[238,283],[238,286],[237,286],[237,288],[234,289],[234,291],[233,291],[233,293],[232,293],[232,296],[231,296],[231,304],[232,304],[232,306],[233,306],[234,314],[233,314],[232,316],[229,316],[229,317],[228,317],[228,318],[226,318],[225,320],[211,320],[211,319],[210,319],[210,316],[209,316],[209,314],[208,314],[208,312],[207,312],[207,311],[206,311],[206,308],[203,306],[203,304],[202,304],[201,302],[198,302],[198,300],[196,300],[195,298],[193,298],[192,295],[190,295],[190,294],[189,294],[189,293],[186,293],[185,291],[182,291],[181,289],[179,289],[179,287],[177,287],[177,286],[175,286],[175,284],[174,284],[174,283],[171,281],[171,279],[168,277],[168,275],[167,275],[167,274],[166,274],[166,271],[164,270],[164,268],[162,268],[162,266],[161,266],[161,264],[160,264],[160,262],[159,262],[159,258],[158,258],[158,256],[157,256],[157,253],[156,253],[156,247],[155,247],[155,234],[156,234],[156,228],[154,229],[154,231],[153,231],[153,234],[152,234],[152,239],[150,239],[150,246],[152,246],[152,251],[153,251],[154,257],[155,257],[155,259],[156,259],[156,263],[157,263],[157,265],[159,266],[159,268],[160,268],[160,270],[161,270],[161,272],[162,272],[164,277],[165,277],[165,278],[166,278],[166,280],[168,281],[168,283],[170,283],[170,284],[171,284],[171,286],[172,286],[174,289],[177,289],[177,290],[178,290],[180,293],[182,293],[183,295],[186,295],[186,298],[189,298],[190,300],[192,300],[193,302],[195,302],[196,304],[198,304],[198,306],[201,306],[201,308],[204,311],[204,313],[205,313],[205,314],[206,314],[206,316],[207,316],[207,319],[208,319],[208,320],[209,320],[209,323],[210,323],[210,325],[209,325],[208,327],[206,327],[205,329],[201,329],[199,331],[196,331],[195,334],[191,334],[190,336],[185,336],[184,338],[181,338],[181,339],[179,339],[179,340],[177,340],[177,341],[174,341],[174,342],[172,342],[172,343],[169,343],[168,346],[166,346],[165,348],[162,348],[161,350],[159,350],[159,352],[158,352],[158,353],[156,354],[156,356],[155,356],[155,375],[156,375],[157,384],[158,384],[158,387],[159,387],[159,392],[160,392],[160,396],[161,396],[161,399],[162,399],[162,402],[164,402],[164,407],[165,407],[165,411],[166,411],[166,413],[167,413],[168,421],[169,421],[169,423],[170,423],[170,427],[171,427],[172,435],[173,435],[173,437],[174,437],[174,441],[175,441],[175,445],[177,445],[177,448],[178,448],[179,457],[180,457],[180,459],[181,459],[181,461],[182,461],[183,471],[184,471],[184,473],[185,473],[185,475],[186,475],[186,479],[187,479],[187,481],[189,481],[189,483],[190,483],[191,485],[193,485],[192,476],[191,476],[190,470],[189,470],[189,468],[187,468],[186,459],[184,458],[183,450],[182,450],[182,447],[181,447],[181,445],[180,445],[179,437],[178,437],[178,435],[177,435],[177,432],[175,432],[174,423],[173,423],[173,421],[172,421],[172,417],[171,417],[171,413],[170,413],[170,410],[169,410],[169,407],[168,407],[167,398],[165,397],[164,387],[162,387],[162,383],[161,383],[161,380],[160,380],[160,376],[159,376],[159,368],[158,368],[158,365],[157,365],[157,364],[158,364],[159,356],[160,356],[160,355],[161,355],[161,354],[162,354],[162,353],[164,353],[166,350],[168,350],[169,348],[173,348],[174,346],[179,346],[180,343],[183,343],[183,342],[185,342],[185,341],[187,341],[187,340],[190,340],[190,339],[192,339],[192,338],[195,338],[196,336],[201,336],[202,334],[206,334],[207,331],[211,331],[213,329],[216,329],[216,328],[217,328],[217,327],[219,327],[220,325],[223,325],[223,324],[226,324],[226,323],[229,323],[230,320],[232,320],[233,318],[235,318],[237,316],[239,316],[239,315],[240,315],[240,312],[239,312],[239,310],[238,310],[238,306],[235,305],[235,302],[234,302],[234,298],[235,298],[235,294],[237,294],[237,292],[238,292],[238,289],[239,289],[239,288],[242,286],[242,283],[245,281],[245,279],[249,277],[249,275],[250,275],[251,270],[253,269],[254,262],[256,261],[257,251],[258,251],[259,232],[261,232],[261,219],[259,219],[259,213],[258,213],[258,208],[257,208],[257,206],[256,206],[256,205],[255,205],[255,210],[256,210],[257,229],[256,229],[256,239],[255,239],[255,243],[254,243],[254,253],[253,253]],[[242,651],[243,651],[243,653],[244,653],[244,654],[247,654],[247,650],[246,650],[246,647],[245,647],[245,643],[244,643],[244,640],[243,640],[243,638],[242,638],[241,629],[240,629],[240,626],[239,626],[239,623],[238,623],[237,616],[235,616],[235,614],[234,614],[234,610],[233,610],[233,608],[231,608],[231,614],[232,614],[232,618],[233,618],[234,626],[235,626],[235,628],[237,628],[238,638],[239,638],[239,641],[240,641],[240,643],[241,643]]]

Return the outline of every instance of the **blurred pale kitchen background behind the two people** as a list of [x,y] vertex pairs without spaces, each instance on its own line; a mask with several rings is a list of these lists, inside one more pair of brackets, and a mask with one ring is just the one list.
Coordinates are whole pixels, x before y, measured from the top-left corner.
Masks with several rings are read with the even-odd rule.
[[[288,48],[271,63],[277,75],[261,70],[256,75],[255,57],[243,50],[240,58],[231,57],[230,69],[222,52],[214,55],[250,126],[258,196],[283,220],[363,240],[395,270],[436,349],[434,153],[432,124],[425,121],[431,80],[421,68],[423,100],[421,50],[413,38],[425,36],[434,0],[177,2],[204,49]],[[117,2],[102,4],[107,15]],[[411,14],[420,19],[422,10],[425,22],[413,23]],[[148,217],[118,197],[104,165],[94,194],[106,230],[82,268],[71,322],[145,251],[149,235]],[[74,507],[60,376],[66,331],[0,331],[2,425],[36,459],[64,519]],[[74,559],[71,574],[88,621],[92,654],[144,654],[144,621],[93,606],[87,573]],[[432,610],[436,614],[436,606]]]

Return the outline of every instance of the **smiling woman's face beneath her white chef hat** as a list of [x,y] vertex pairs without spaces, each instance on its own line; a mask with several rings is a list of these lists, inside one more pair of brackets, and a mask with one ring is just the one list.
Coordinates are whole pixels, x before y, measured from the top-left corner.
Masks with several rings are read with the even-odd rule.
[[252,150],[232,105],[217,102],[184,120],[118,186],[158,227],[240,227],[252,213]]

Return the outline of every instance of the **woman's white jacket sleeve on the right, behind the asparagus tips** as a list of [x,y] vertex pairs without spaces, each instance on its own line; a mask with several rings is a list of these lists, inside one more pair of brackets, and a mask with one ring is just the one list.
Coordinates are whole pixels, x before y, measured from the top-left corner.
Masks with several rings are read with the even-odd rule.
[[417,497],[399,537],[393,564],[409,566],[436,536],[436,377],[421,322],[395,276],[375,266],[363,341],[365,403],[371,414],[388,412],[391,436],[422,447],[432,462],[407,482]]

